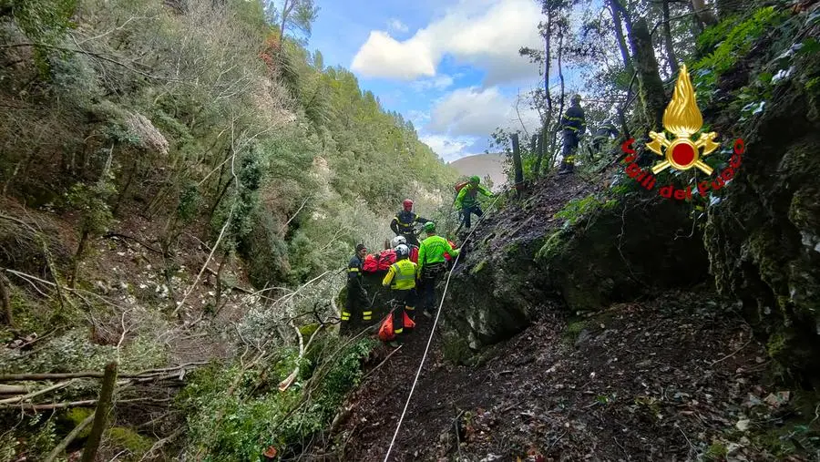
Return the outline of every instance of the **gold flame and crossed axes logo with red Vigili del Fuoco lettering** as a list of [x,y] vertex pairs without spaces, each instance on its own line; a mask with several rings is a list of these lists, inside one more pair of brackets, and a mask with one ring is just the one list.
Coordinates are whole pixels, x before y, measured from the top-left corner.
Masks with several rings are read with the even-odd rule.
[[[705,158],[718,149],[721,145],[714,141],[717,133],[701,133],[700,138],[692,141],[692,135],[698,133],[703,126],[701,111],[698,109],[695,93],[692,89],[692,82],[689,79],[689,72],[686,66],[681,67],[678,74],[678,82],[675,84],[674,95],[672,95],[669,106],[663,111],[663,128],[674,135],[674,139],[668,139],[664,132],[650,132],[652,141],[646,145],[655,154],[664,158],[657,162],[651,170],[644,170],[635,163],[638,156],[635,149],[630,145],[635,139],[628,139],[620,149],[626,153],[626,173],[631,179],[638,181],[647,190],[655,187],[655,175],[665,169],[688,170],[699,169],[706,175],[712,175],[712,167],[706,165],[702,158]],[[723,169],[720,174],[710,180],[698,183],[698,193],[703,196],[708,190],[720,190],[727,181],[732,180],[737,169],[743,162],[743,152],[745,147],[743,139],[735,139],[733,155],[729,159],[729,166]],[[692,200],[692,186],[686,190],[676,190],[671,184],[661,187],[659,190],[661,197],[674,198],[677,200]]]

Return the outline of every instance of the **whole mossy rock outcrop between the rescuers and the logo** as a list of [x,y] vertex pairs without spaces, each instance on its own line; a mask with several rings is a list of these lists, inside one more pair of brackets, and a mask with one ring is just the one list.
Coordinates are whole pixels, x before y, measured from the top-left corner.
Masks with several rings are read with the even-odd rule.
[[[708,278],[701,236],[680,202],[603,202],[590,196],[599,190],[594,180],[548,178],[528,200],[499,210],[456,268],[446,331],[479,350],[518,334],[547,307],[595,311]],[[555,217],[583,198],[598,206],[572,224]]]

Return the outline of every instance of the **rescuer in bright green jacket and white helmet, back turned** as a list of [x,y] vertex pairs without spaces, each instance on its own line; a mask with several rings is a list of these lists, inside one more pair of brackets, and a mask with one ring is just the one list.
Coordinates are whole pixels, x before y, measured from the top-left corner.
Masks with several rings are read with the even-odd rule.
[[436,236],[436,223],[425,223],[427,238],[421,242],[418,249],[419,296],[427,317],[432,316],[431,310],[436,303],[436,281],[446,272],[445,254],[456,258],[458,249],[453,249],[450,242],[441,236]]

